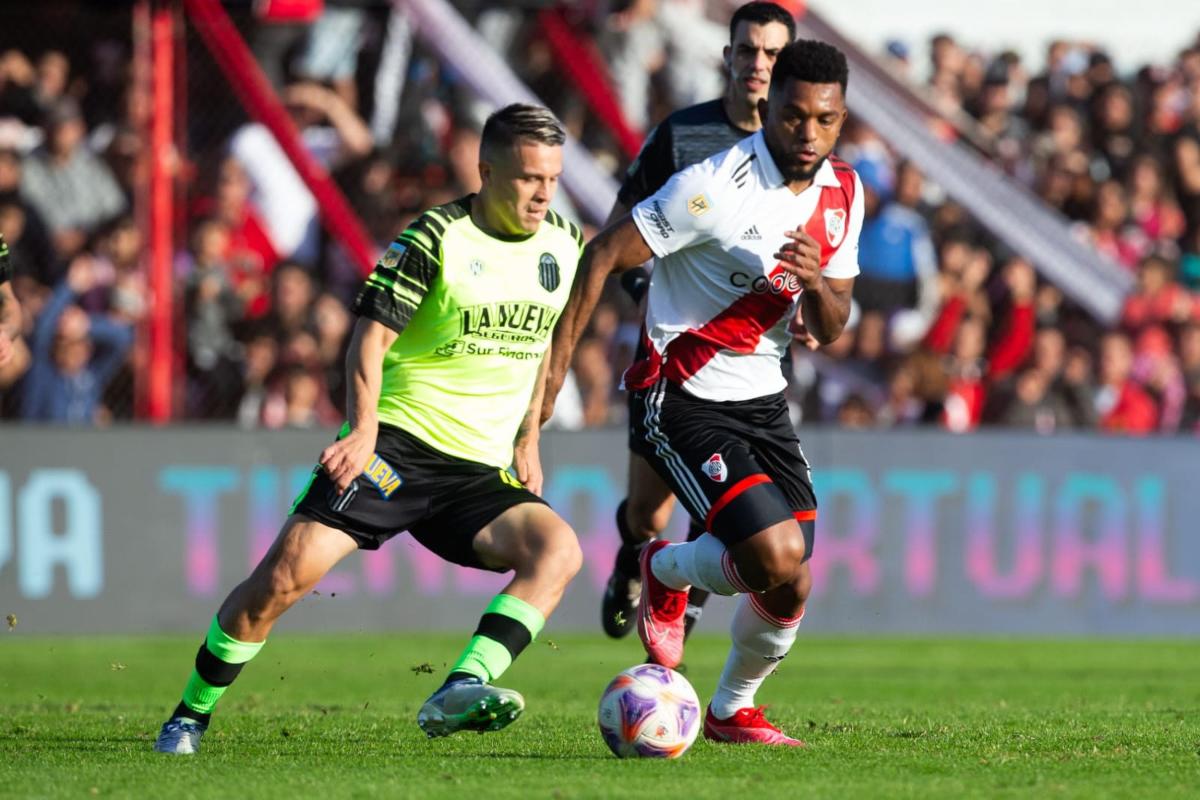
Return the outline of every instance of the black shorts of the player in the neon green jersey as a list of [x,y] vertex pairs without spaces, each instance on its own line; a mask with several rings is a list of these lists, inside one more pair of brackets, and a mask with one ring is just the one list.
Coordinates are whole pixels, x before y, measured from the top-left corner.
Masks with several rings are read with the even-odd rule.
[[503,469],[448,456],[380,425],[374,457],[350,487],[338,497],[317,465],[292,513],[346,531],[365,551],[407,530],[445,560],[484,570],[490,567],[475,555],[475,535],[522,503],[546,505]]

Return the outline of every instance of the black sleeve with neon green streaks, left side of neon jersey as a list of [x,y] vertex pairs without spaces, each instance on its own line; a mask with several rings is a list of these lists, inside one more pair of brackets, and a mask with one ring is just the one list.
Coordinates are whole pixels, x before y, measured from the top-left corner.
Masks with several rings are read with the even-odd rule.
[[359,290],[354,313],[402,333],[442,271],[442,230],[424,215],[396,236]]

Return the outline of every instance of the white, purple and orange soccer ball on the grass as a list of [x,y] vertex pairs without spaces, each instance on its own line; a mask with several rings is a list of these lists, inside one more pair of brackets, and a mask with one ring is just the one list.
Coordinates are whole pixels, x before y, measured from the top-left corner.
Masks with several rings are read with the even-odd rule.
[[700,732],[700,698],[659,664],[630,667],[600,696],[600,733],[618,758],[679,758]]

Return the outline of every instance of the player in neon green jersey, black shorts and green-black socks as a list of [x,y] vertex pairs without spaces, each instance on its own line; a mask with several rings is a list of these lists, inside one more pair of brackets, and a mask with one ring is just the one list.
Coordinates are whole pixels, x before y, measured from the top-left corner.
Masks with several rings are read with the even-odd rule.
[[212,619],[155,750],[196,752],[275,620],[352,551],[404,530],[455,564],[514,573],[418,724],[442,736],[521,714],[522,697],[492,681],[582,564],[574,531],[538,497],[544,365],[583,246],[550,210],[563,142],[548,110],[500,109],[484,126],[480,192],[430,209],[379,259],[354,306],[349,421]]

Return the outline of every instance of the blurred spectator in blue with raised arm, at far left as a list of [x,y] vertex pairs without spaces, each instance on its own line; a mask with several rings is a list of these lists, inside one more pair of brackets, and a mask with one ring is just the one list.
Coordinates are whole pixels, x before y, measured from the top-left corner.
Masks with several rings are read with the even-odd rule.
[[133,343],[133,330],[73,305],[94,281],[90,257],[77,258],[37,318],[22,399],[25,420],[94,425],[104,419],[101,396]]

